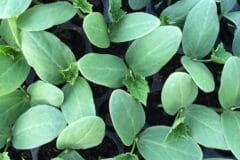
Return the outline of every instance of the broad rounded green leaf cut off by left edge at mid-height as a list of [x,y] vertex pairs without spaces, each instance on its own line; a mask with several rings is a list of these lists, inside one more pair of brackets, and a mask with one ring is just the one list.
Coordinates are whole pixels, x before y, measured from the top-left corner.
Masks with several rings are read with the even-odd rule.
[[0,46],[0,96],[13,92],[27,78],[30,66],[9,46]]

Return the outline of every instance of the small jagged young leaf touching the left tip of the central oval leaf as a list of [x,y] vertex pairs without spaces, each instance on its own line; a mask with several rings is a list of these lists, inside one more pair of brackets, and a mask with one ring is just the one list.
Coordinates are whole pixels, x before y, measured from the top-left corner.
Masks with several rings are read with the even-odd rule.
[[78,78],[78,64],[77,62],[73,62],[67,69],[60,70],[60,73],[63,75],[64,79],[74,85]]

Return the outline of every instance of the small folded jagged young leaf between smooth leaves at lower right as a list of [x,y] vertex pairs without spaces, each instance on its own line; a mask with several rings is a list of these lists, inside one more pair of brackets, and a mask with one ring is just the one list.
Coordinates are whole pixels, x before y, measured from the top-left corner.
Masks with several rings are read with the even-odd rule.
[[188,128],[184,123],[185,118],[181,117],[174,121],[173,126],[170,128],[168,134],[166,135],[165,142],[176,141],[180,137],[188,137]]

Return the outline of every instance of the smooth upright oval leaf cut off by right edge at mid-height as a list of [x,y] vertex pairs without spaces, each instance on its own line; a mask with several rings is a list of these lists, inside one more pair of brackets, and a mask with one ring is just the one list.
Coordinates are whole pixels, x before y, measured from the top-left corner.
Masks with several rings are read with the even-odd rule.
[[222,71],[218,98],[223,108],[240,105],[240,58],[228,58]]

